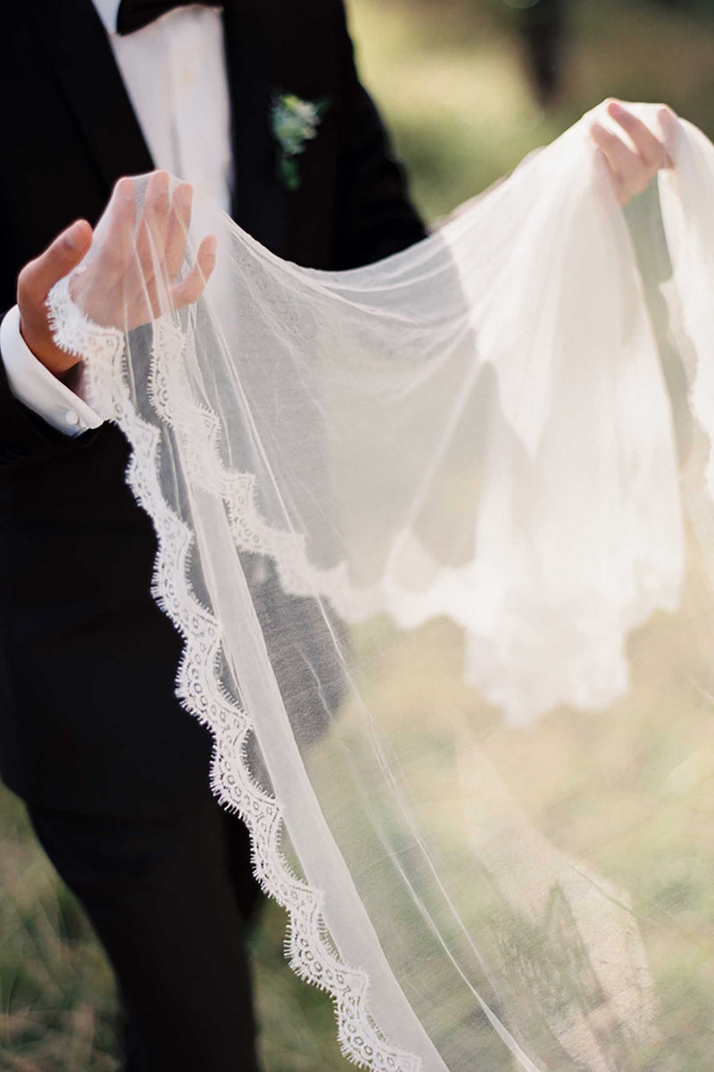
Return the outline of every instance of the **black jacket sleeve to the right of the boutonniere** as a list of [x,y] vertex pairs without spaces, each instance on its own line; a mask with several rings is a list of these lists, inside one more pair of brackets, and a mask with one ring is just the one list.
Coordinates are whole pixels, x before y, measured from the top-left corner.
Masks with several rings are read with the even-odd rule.
[[377,109],[359,81],[346,25],[343,40],[345,80],[332,257],[338,270],[380,260],[426,235]]

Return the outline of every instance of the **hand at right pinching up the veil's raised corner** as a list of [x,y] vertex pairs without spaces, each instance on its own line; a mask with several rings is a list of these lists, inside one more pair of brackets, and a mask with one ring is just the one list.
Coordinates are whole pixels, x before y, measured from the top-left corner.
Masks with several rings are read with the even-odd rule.
[[[590,133],[601,151],[610,172],[618,200],[626,205],[636,194],[643,193],[660,167],[672,167],[664,142],[655,137],[649,126],[633,115],[620,101],[608,101],[608,115],[625,132],[626,137],[608,130],[601,123],[593,122]],[[676,116],[668,107],[661,107],[657,118],[665,139],[673,135]]]

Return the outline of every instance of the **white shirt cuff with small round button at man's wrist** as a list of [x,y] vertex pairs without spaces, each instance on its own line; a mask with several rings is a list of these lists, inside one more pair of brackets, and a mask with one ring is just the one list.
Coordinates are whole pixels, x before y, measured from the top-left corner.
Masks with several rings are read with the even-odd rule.
[[81,435],[103,423],[91,406],[65,386],[27,345],[19,329],[19,310],[14,306],[0,324],[0,357],[10,390],[28,410],[65,435]]

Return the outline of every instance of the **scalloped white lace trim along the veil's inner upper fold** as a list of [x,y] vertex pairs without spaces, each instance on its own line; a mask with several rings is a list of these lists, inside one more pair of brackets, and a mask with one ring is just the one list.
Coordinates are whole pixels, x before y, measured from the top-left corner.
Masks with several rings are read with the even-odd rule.
[[[465,634],[464,681],[501,708],[510,725],[533,723],[560,703],[598,710],[626,689],[629,631],[655,609],[672,610],[679,601],[679,580],[670,579],[663,586],[667,570],[661,564],[641,567],[637,597],[627,608],[599,604],[581,607],[579,613],[575,608],[571,613],[560,608],[555,614],[534,605],[524,593],[515,598],[512,593],[500,591],[492,569],[476,569],[474,562],[460,568],[437,563],[407,530],[395,539],[392,561],[403,554],[419,563],[423,576],[431,578],[422,591],[400,584],[389,565],[377,583],[365,587],[352,583],[344,560],[321,569],[308,557],[301,533],[276,528],[265,520],[255,476],[223,465],[218,418],[195,401],[185,374],[187,357],[189,363],[192,357],[185,352],[192,344],[192,327],[190,317],[183,327],[167,317],[154,322],[151,403],[180,438],[181,457],[192,480],[222,497],[236,548],[269,556],[284,592],[321,597],[349,623],[381,612],[389,614],[402,629],[416,628],[440,615],[450,619]],[[544,630],[548,617],[550,627]],[[544,634],[550,639],[539,646],[536,638]],[[561,672],[554,680],[544,680],[540,672],[541,660],[549,658],[548,645],[551,657],[553,646],[559,652]]]

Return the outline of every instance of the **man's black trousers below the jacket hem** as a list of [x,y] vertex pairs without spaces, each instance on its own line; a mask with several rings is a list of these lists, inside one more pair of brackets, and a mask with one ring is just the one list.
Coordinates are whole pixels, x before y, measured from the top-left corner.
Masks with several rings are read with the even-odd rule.
[[242,822],[208,790],[170,818],[28,812],[115,969],[125,1072],[256,1072],[244,937],[262,895]]

